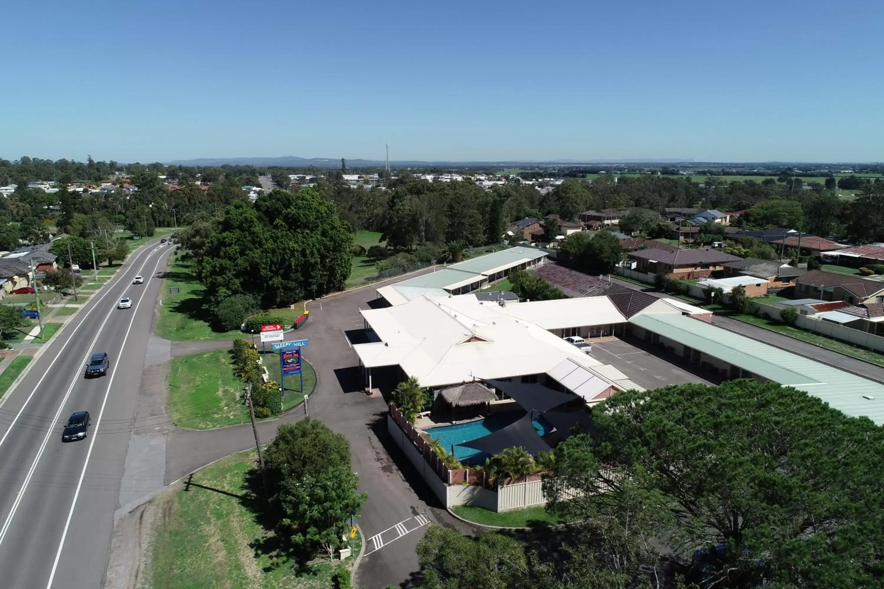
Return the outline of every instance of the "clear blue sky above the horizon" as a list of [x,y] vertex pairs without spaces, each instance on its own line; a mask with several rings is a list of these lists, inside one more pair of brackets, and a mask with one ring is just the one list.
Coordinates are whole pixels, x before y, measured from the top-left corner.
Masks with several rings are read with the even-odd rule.
[[0,157],[884,161],[884,3],[32,0]]

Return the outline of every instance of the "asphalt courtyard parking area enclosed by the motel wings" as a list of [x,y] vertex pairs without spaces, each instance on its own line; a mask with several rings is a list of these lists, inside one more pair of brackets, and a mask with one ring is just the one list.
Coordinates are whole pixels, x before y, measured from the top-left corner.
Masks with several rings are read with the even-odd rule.
[[621,339],[592,344],[592,357],[599,362],[614,366],[626,374],[629,380],[645,389],[689,382],[714,384],[687,368],[674,364],[673,362],[678,361],[675,357],[671,357],[673,362],[670,362],[669,359],[660,358],[644,348]]

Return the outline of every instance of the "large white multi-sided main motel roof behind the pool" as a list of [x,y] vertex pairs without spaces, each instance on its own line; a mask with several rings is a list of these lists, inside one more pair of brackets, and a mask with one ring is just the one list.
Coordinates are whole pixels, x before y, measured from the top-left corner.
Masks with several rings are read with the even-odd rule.
[[[587,369],[604,366],[536,323],[504,313],[523,305],[482,304],[469,295],[423,296],[399,306],[365,310],[362,316],[381,342],[353,347],[363,366],[399,365],[425,387],[548,374],[566,359]],[[593,374],[598,383],[606,382],[605,388],[613,384],[600,373]]]

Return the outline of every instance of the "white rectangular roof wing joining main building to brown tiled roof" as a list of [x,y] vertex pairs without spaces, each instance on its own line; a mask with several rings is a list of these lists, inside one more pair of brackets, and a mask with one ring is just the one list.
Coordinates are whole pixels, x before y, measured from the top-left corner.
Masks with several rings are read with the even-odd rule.
[[540,300],[500,307],[500,313],[531,321],[544,329],[625,323],[617,307],[606,296]]

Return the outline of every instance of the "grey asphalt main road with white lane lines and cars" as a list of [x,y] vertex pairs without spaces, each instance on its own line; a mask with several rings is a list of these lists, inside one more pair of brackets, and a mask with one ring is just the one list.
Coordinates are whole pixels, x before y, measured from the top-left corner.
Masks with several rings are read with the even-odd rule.
[[[153,241],[90,297],[0,406],[0,585],[95,589],[103,584],[113,513],[133,426],[168,245]],[[145,282],[132,284],[141,274]],[[131,309],[116,308],[120,297]],[[84,377],[93,351],[110,371]],[[72,412],[88,438],[63,443]]]

